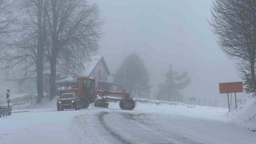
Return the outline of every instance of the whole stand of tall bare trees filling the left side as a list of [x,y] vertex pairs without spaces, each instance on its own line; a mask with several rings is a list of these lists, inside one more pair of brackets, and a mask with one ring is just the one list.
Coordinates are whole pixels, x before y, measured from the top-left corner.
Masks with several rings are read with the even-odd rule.
[[75,76],[98,50],[103,22],[86,0],[0,0],[0,13],[1,70],[19,85],[34,77],[38,102],[44,79],[52,99],[56,74]]

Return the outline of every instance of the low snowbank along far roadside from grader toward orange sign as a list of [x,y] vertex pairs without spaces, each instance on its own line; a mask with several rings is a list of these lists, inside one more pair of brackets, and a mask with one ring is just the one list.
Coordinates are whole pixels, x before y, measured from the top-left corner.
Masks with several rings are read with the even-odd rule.
[[[148,99],[134,99],[136,107],[134,113],[185,115],[210,120],[227,121],[228,109],[222,107],[197,106],[193,107],[181,102],[166,102]],[[111,102],[109,109],[120,109],[119,102]]]

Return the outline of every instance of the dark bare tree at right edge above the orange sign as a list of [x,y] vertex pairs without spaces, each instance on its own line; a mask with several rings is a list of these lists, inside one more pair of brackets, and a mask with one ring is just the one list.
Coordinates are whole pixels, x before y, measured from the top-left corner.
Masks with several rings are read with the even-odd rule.
[[256,1],[214,0],[210,25],[222,51],[235,60],[247,93],[256,93]]

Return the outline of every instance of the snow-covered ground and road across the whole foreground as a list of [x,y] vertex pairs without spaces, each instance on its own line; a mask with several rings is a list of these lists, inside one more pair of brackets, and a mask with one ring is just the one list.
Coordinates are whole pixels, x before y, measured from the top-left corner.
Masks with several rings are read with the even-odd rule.
[[236,114],[227,116],[223,108],[140,101],[132,111],[120,110],[118,103],[109,109],[56,111],[55,104],[16,107],[1,117],[0,143],[256,143],[256,132],[230,122]]

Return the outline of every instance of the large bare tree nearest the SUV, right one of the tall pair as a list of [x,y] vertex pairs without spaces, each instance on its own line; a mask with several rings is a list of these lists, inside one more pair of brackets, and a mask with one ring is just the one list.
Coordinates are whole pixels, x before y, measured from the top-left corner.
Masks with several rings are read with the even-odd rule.
[[102,22],[99,19],[98,6],[89,5],[85,0],[50,0],[50,5],[51,9],[47,11],[49,37],[46,56],[50,63],[52,99],[56,90],[58,62],[66,58],[66,62],[75,62],[73,67],[83,67],[82,62],[98,49],[99,28]]

